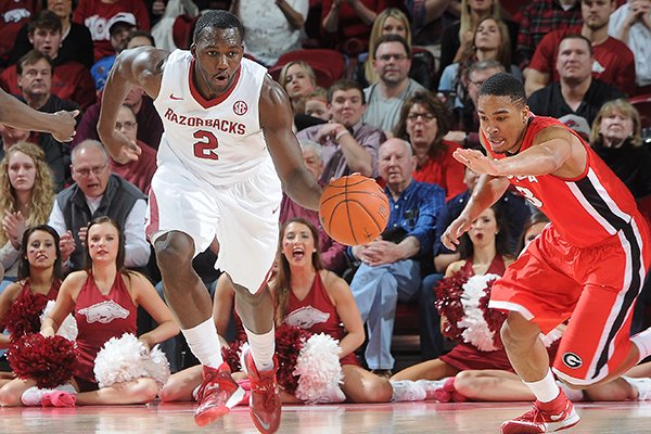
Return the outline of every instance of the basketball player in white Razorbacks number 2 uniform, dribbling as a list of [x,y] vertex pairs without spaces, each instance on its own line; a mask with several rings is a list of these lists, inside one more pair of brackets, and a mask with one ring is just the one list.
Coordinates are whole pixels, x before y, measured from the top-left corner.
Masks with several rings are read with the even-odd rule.
[[318,208],[321,190],[303,164],[288,95],[264,67],[243,59],[242,35],[234,15],[210,11],[196,23],[190,51],[123,52],[104,88],[98,131],[118,162],[137,158],[137,145],[114,129],[117,112],[132,86],[154,99],[165,133],[146,231],[167,302],[204,367],[195,422],[213,422],[243,396],[221,359],[210,297],[191,266],[216,239],[215,267],[235,283],[235,307],[251,344],[244,357],[251,416],[258,431],[271,433],[280,424],[280,399],[267,279],[278,244],[281,181],[310,209]]

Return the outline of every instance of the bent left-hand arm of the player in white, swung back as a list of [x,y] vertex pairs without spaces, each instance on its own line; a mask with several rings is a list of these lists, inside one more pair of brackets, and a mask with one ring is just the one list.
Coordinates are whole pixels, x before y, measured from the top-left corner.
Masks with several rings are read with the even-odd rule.
[[113,64],[102,93],[98,133],[111,157],[118,163],[137,159],[140,154],[136,143],[115,130],[119,107],[133,86],[156,99],[161,90],[163,65],[168,55],[167,51],[138,47],[123,51]]

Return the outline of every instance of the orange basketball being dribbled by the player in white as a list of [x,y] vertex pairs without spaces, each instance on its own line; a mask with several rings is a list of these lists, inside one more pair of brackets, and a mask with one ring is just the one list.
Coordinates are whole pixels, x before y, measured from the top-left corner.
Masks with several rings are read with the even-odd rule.
[[388,221],[388,199],[371,178],[350,175],[330,182],[319,203],[326,232],[346,245],[374,240]]

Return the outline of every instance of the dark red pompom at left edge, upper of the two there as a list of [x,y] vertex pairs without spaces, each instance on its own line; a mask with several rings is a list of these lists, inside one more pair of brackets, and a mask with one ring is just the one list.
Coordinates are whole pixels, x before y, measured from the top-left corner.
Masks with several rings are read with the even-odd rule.
[[47,304],[48,297],[43,294],[21,292],[4,316],[4,323],[11,339],[15,341],[27,333],[40,331],[40,315]]

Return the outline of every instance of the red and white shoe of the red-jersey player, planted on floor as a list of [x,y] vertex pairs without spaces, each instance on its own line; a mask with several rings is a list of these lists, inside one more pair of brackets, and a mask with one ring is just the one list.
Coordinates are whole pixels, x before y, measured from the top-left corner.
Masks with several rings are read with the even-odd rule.
[[[556,410],[541,410],[545,408],[556,408]],[[567,430],[578,423],[580,418],[574,410],[572,401],[561,394],[551,403],[534,403],[534,408],[520,418],[506,421],[500,429],[502,434],[539,434],[552,433],[556,431]]]

